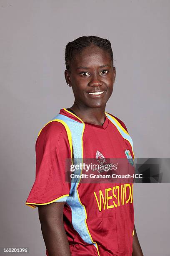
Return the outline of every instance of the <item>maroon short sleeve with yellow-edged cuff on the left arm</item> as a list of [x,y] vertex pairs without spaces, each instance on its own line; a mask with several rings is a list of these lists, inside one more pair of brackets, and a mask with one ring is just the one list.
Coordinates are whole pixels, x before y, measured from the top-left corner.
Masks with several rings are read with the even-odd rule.
[[35,182],[25,204],[35,208],[55,201],[65,202],[70,193],[70,183],[65,179],[66,159],[71,158],[65,126],[58,121],[45,125],[35,151]]

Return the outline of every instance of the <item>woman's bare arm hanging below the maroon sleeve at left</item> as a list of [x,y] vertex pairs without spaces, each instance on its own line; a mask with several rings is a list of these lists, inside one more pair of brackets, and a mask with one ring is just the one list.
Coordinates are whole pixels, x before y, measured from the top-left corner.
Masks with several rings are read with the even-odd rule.
[[63,224],[65,202],[53,202],[38,207],[42,236],[49,256],[70,256],[70,247]]

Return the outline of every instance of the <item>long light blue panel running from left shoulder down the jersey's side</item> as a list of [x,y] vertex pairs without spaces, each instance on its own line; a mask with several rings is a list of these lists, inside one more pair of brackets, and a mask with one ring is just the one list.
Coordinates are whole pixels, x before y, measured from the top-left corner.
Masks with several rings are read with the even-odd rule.
[[[82,145],[81,145],[81,137],[83,132],[83,123],[79,123],[71,118],[68,118],[65,115],[58,114],[54,119],[63,120],[69,127],[71,131],[72,137],[72,146],[74,151],[74,164],[79,164],[82,162]],[[81,170],[75,170],[74,174],[80,175]],[[67,197],[67,204],[70,206],[72,211],[72,225],[77,233],[81,236],[81,238],[89,244],[96,244],[92,242],[90,235],[87,231],[87,227],[85,225],[85,209],[81,205],[78,195],[77,195],[77,186],[80,179],[72,179],[70,195]]]

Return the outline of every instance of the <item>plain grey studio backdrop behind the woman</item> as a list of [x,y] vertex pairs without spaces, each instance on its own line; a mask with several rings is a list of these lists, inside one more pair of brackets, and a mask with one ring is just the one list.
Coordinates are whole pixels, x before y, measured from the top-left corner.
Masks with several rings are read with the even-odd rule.
[[[68,41],[111,41],[116,67],[107,112],[122,119],[136,157],[169,157],[169,0],[0,0],[0,246],[45,256],[35,180],[40,128],[73,102],[64,78]],[[135,226],[145,256],[170,256],[169,184],[134,185]]]

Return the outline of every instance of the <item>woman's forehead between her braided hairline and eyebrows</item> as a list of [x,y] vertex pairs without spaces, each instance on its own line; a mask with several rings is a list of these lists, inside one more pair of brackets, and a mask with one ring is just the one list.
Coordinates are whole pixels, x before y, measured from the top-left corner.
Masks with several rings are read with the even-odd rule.
[[111,56],[108,51],[105,51],[98,46],[87,46],[83,48],[80,52],[75,52],[75,56],[72,59],[72,66],[102,66],[105,64],[110,64]]

